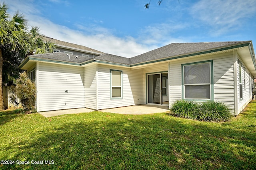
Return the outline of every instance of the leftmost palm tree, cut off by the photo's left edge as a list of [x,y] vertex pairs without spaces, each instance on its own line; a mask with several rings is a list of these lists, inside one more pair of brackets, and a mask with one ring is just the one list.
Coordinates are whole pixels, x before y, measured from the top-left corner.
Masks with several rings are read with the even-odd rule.
[[8,7],[0,4],[0,110],[4,109],[3,101],[3,58],[2,51],[27,51],[28,43],[27,22],[22,14],[16,12],[12,18],[7,13]]

